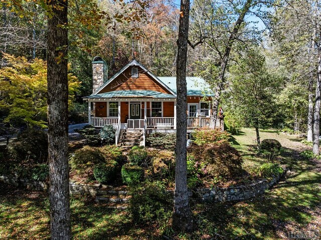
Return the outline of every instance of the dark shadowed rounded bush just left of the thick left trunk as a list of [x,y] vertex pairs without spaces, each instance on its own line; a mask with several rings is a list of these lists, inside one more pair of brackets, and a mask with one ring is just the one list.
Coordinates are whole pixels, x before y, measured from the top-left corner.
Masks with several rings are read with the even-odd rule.
[[20,133],[17,139],[8,145],[8,152],[12,158],[19,161],[26,159],[47,161],[47,133],[33,128],[27,129]]

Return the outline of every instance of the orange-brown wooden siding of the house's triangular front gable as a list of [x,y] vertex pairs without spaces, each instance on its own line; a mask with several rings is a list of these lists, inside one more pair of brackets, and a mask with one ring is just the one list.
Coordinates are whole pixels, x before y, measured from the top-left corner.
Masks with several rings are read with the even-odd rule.
[[138,78],[131,78],[131,67],[116,77],[111,83],[104,87],[99,93],[117,90],[151,90],[161,93],[170,93],[165,87],[154,81],[148,73],[144,73],[138,67]]

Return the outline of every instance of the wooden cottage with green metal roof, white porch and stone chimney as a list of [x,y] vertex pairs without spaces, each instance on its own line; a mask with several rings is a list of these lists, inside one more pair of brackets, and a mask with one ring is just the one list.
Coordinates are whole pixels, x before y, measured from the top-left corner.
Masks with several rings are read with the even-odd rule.
[[[121,132],[145,134],[153,131],[176,131],[176,77],[156,77],[136,60],[107,79],[106,63],[95,57],[93,93],[88,101],[88,122],[95,127],[113,125],[116,143]],[[212,127],[211,97],[213,92],[202,78],[187,77],[188,131]],[[217,120],[223,129],[223,120]],[[138,136],[139,136],[138,134]]]

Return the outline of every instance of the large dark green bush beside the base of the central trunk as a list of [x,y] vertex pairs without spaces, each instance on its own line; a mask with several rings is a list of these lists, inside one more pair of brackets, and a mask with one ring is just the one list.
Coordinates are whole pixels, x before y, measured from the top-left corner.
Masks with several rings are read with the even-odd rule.
[[130,189],[129,212],[137,223],[166,222],[172,215],[172,199],[161,181],[145,182]]

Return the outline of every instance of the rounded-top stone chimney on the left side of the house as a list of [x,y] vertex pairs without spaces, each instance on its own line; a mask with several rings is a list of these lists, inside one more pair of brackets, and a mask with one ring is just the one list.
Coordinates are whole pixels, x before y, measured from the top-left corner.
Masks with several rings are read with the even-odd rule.
[[92,61],[92,92],[96,92],[108,79],[107,64],[101,57]]

